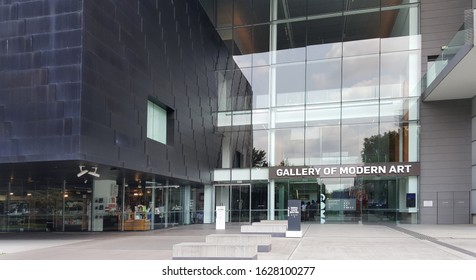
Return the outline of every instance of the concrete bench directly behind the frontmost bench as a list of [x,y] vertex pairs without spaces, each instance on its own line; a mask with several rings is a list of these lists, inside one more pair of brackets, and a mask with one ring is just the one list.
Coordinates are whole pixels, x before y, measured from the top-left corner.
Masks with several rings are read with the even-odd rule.
[[206,236],[207,243],[213,244],[243,244],[257,246],[258,252],[271,251],[270,234],[210,234]]

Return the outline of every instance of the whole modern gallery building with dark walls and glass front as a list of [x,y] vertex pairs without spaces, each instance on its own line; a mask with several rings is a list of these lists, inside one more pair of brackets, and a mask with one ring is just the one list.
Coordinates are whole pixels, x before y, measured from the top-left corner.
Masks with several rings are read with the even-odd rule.
[[472,2],[0,0],[0,231],[474,223]]

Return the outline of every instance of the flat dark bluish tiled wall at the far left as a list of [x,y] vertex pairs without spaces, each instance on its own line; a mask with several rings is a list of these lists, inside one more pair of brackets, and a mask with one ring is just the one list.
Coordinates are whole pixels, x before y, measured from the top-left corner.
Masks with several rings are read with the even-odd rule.
[[0,162],[77,158],[81,6],[0,1]]

